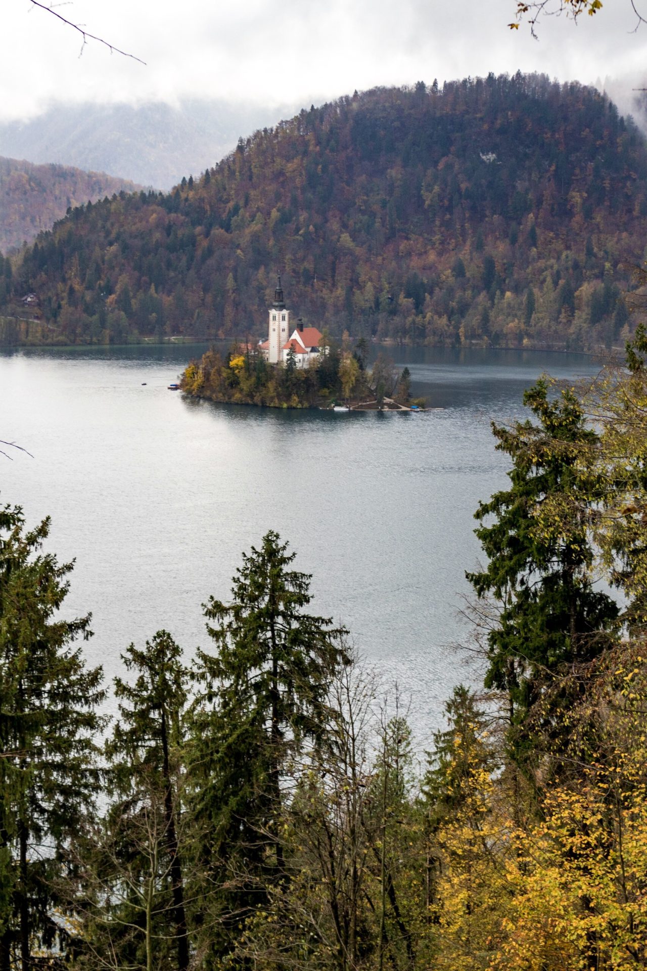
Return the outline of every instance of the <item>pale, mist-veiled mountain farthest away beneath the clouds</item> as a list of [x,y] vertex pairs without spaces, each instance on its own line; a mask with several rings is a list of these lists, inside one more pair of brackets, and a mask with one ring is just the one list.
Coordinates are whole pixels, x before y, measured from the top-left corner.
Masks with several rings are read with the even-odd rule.
[[0,122],[0,154],[109,172],[169,189],[199,175],[232,151],[243,135],[275,124],[294,107],[236,106],[193,100],[177,108],[130,105],[55,105],[28,121]]

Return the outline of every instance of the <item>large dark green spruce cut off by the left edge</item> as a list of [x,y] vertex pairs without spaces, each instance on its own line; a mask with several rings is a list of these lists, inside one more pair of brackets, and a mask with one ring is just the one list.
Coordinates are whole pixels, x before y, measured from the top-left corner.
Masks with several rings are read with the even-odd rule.
[[49,519],[26,530],[18,507],[0,511],[1,971],[68,947],[61,878],[99,786],[101,668],[87,670],[74,647],[89,615],[59,614],[73,564],[40,552],[48,535]]

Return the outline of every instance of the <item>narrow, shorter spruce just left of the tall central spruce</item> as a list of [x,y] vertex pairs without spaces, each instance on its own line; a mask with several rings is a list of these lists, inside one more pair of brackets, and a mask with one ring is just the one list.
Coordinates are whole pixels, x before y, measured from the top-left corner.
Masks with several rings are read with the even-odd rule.
[[186,971],[188,852],[183,813],[183,720],[188,674],[158,631],[122,654],[132,681],[114,679],[119,715],[106,745],[111,802],[85,857],[85,962],[96,968]]

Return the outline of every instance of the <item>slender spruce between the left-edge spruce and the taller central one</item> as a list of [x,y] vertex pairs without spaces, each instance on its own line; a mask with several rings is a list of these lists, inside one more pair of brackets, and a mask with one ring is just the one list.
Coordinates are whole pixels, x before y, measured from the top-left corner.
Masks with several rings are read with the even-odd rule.
[[[139,848],[140,886],[145,887],[139,899],[139,917],[141,920],[143,913],[146,924],[145,935],[141,934],[140,939],[146,936],[146,967],[151,963],[153,942],[158,959],[168,949],[167,942],[172,942],[175,960],[168,954],[165,966],[186,971],[189,945],[178,830],[188,674],[178,645],[165,630],[146,641],[143,651],[131,644],[122,660],[136,679],[133,684],[121,678],[114,680],[119,719],[106,751],[116,799],[108,813],[107,839],[100,854],[108,850],[113,855],[113,882],[118,884],[123,877],[119,863],[129,857],[132,874],[137,869],[138,854],[134,848]],[[146,848],[142,840],[144,833]],[[150,868],[153,855],[157,863],[154,892],[146,908],[144,871]],[[138,900],[131,896],[129,902],[123,901],[112,914],[103,915],[102,920],[113,921],[117,927],[129,921],[137,923],[137,911]]]

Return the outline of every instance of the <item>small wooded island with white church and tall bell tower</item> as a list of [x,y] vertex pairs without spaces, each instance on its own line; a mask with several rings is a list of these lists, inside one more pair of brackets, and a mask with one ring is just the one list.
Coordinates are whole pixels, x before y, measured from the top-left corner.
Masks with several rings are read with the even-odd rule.
[[398,372],[379,354],[367,366],[368,343],[337,341],[326,331],[305,327],[291,332],[280,277],[268,311],[268,339],[235,342],[228,352],[211,348],[191,361],[181,376],[185,394],[210,401],[267,408],[345,408],[350,411],[411,411],[425,406],[411,400],[408,368]]

